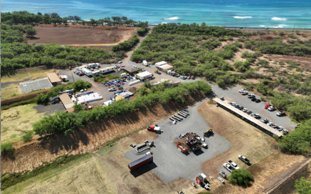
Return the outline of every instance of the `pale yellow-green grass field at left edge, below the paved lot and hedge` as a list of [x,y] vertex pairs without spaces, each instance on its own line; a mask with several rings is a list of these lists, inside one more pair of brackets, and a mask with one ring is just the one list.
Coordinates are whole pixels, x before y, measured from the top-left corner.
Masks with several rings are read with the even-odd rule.
[[20,137],[33,129],[32,123],[40,120],[44,113],[37,113],[36,104],[1,110],[1,143],[20,141]]

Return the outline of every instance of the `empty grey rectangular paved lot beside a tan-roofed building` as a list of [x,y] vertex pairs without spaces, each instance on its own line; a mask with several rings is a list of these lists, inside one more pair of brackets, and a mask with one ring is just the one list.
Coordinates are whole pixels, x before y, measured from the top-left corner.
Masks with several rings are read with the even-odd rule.
[[22,93],[28,93],[36,89],[51,88],[52,84],[49,78],[36,79],[28,82],[19,83]]

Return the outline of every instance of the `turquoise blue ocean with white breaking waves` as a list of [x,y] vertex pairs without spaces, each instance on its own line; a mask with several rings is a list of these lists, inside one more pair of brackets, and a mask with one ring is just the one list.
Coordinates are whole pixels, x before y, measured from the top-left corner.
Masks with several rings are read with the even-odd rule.
[[227,27],[311,28],[311,0],[1,0],[1,12]]

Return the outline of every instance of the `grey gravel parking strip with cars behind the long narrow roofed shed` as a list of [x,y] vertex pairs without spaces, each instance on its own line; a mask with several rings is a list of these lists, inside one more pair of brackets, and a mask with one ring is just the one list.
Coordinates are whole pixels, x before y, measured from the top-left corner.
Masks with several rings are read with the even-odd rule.
[[[247,95],[242,95],[239,90],[242,89],[242,87],[237,86],[234,88],[218,88],[215,85],[211,85],[212,89],[215,91],[216,96],[224,96],[226,100],[229,102],[235,102],[241,106],[244,106],[244,108],[247,108],[248,110],[253,111],[253,113],[259,113],[260,120],[262,119],[269,119],[269,122],[276,123],[279,126],[284,127],[284,129],[287,129],[289,131],[294,130],[294,127],[296,124],[292,123],[290,119],[286,115],[282,115],[280,117],[276,116],[277,110],[269,111],[267,109],[264,109],[263,106],[269,104],[268,102],[260,102],[255,103],[251,101],[251,99],[247,98]],[[259,96],[256,95],[256,98],[260,99]]]

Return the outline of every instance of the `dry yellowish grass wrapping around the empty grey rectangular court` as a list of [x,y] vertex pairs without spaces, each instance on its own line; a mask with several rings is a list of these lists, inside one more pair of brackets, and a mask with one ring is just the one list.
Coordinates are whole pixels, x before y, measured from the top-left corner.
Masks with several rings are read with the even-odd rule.
[[13,94],[21,94],[21,90],[18,88],[18,83],[28,81],[31,79],[39,79],[47,77],[47,73],[51,73],[53,70],[38,70],[33,69],[26,72],[17,72],[15,75],[7,75],[1,77],[1,98],[8,98]]

